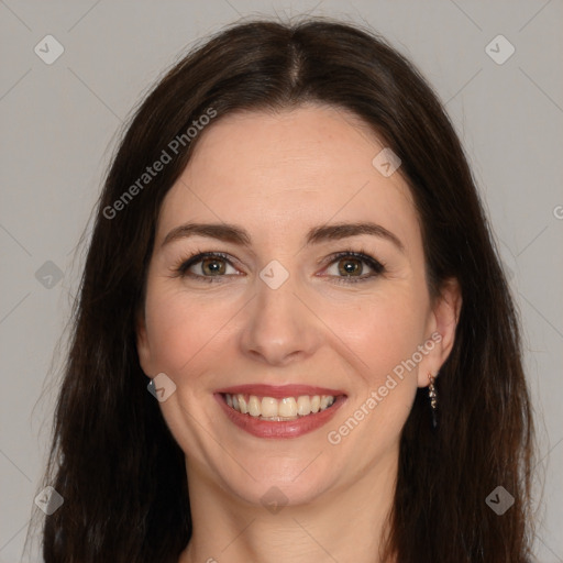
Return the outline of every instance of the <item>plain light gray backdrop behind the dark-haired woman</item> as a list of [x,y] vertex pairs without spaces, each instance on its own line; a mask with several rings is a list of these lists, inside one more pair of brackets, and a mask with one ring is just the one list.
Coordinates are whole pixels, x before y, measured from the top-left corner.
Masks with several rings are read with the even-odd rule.
[[[563,562],[561,0],[0,0],[0,562],[41,561],[36,551],[22,559],[22,549],[82,264],[78,242],[123,120],[179,53],[222,24],[305,12],[383,33],[433,85],[462,137],[523,321],[541,445],[538,561]],[[51,65],[34,52],[47,34],[65,49]],[[500,65],[486,51],[498,34],[516,48]],[[508,53],[503,43],[490,48]]]

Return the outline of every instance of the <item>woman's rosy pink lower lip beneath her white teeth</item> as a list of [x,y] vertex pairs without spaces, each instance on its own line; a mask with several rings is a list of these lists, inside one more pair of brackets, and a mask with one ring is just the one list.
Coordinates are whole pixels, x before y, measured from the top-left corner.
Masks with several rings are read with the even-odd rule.
[[328,409],[299,417],[296,420],[285,420],[276,422],[274,420],[262,420],[250,415],[243,415],[227,405],[221,394],[214,394],[216,399],[222,409],[239,428],[257,438],[298,438],[312,432],[325,424],[336,413],[336,410],[346,401],[346,397],[341,395]]

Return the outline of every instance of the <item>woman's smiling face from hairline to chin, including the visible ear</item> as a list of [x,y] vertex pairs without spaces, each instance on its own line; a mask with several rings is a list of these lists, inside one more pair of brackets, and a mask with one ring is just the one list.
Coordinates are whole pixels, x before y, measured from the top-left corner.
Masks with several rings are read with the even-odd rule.
[[[168,378],[159,405],[188,479],[252,504],[275,486],[300,504],[393,472],[459,306],[454,292],[430,301],[400,167],[389,175],[365,125],[320,106],[230,114],[200,134],[161,209],[137,332],[144,372]],[[188,223],[214,227],[177,230]],[[181,274],[201,252],[222,256]],[[311,412],[332,400],[314,395],[334,404]],[[261,415],[296,410],[311,413]]]

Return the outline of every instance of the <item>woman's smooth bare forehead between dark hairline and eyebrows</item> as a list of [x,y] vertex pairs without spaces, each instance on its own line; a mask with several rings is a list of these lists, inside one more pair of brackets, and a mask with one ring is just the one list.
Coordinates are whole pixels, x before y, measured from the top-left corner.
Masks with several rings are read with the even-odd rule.
[[374,167],[384,144],[351,112],[319,106],[239,112],[201,135],[163,202],[158,240],[187,220],[240,223],[268,239],[347,220],[417,234],[407,183]]

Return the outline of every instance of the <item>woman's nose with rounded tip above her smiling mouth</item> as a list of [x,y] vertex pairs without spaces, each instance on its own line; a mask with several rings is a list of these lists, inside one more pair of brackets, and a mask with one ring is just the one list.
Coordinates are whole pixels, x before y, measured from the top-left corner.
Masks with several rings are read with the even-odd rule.
[[321,343],[318,317],[307,306],[292,276],[277,289],[260,277],[244,313],[242,352],[254,361],[283,366],[311,356]]

